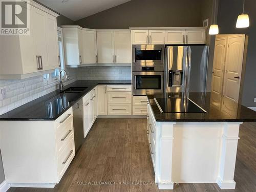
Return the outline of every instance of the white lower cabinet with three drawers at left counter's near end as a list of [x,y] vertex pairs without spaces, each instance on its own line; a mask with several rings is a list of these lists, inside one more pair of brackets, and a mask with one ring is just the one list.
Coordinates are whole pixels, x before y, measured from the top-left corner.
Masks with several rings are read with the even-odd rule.
[[53,187],[75,156],[72,108],[55,121],[2,121],[0,148],[8,183]]

